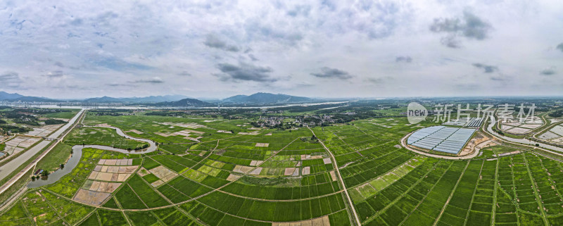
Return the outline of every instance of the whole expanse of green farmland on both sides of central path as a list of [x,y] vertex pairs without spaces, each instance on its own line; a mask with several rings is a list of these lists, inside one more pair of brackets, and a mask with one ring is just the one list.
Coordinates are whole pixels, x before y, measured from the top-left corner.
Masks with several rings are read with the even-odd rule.
[[[93,114],[84,123],[158,141],[158,151],[84,149],[69,175],[11,203],[2,225],[355,225],[352,209],[362,225],[562,221],[563,163],[502,144],[469,160],[400,146],[433,123],[372,118],[274,130],[243,120]],[[82,143],[142,145],[115,130],[80,127],[39,165],[56,168],[70,145]]]

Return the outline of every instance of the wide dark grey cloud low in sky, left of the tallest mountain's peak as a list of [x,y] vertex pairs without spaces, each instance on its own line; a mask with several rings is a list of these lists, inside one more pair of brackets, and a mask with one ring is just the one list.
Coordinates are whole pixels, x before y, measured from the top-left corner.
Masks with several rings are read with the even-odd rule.
[[270,67],[261,67],[248,63],[234,65],[230,63],[217,64],[217,68],[222,72],[215,74],[222,81],[254,81],[254,82],[275,82],[277,79],[270,77],[274,70]]

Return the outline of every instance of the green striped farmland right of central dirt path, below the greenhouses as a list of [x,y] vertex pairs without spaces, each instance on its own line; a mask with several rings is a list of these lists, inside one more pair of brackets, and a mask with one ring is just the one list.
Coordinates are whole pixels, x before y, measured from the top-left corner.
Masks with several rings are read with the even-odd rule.
[[395,144],[416,127],[406,120],[375,121],[315,128],[345,165],[341,172],[363,225],[557,225],[562,220],[561,162],[533,152],[466,161],[415,156]]

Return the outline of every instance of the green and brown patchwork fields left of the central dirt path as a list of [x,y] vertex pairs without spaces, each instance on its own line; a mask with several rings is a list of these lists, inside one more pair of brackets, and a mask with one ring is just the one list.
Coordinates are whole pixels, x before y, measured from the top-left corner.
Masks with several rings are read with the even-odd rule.
[[[135,128],[123,128],[131,129]],[[68,140],[109,140],[96,136],[99,131],[73,132]],[[127,155],[84,149],[81,163],[69,175],[56,184],[28,192],[6,212],[22,218],[8,218],[6,214],[0,221],[15,225],[26,220],[37,225],[272,225],[299,221],[349,225],[329,155],[311,137],[305,128],[228,137],[218,134],[217,138],[179,149],[178,154]],[[73,200],[77,191],[92,186],[89,175],[101,159],[122,158],[133,159],[139,170],[101,206]],[[27,202],[32,199],[33,204],[44,206],[35,208]],[[84,209],[82,218],[70,218],[53,208],[70,203]]]

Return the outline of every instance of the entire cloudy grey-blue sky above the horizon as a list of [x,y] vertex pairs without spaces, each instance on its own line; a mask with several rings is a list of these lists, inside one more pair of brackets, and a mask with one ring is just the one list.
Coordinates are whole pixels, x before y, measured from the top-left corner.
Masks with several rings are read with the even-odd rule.
[[559,0],[1,1],[0,91],[563,94]]

